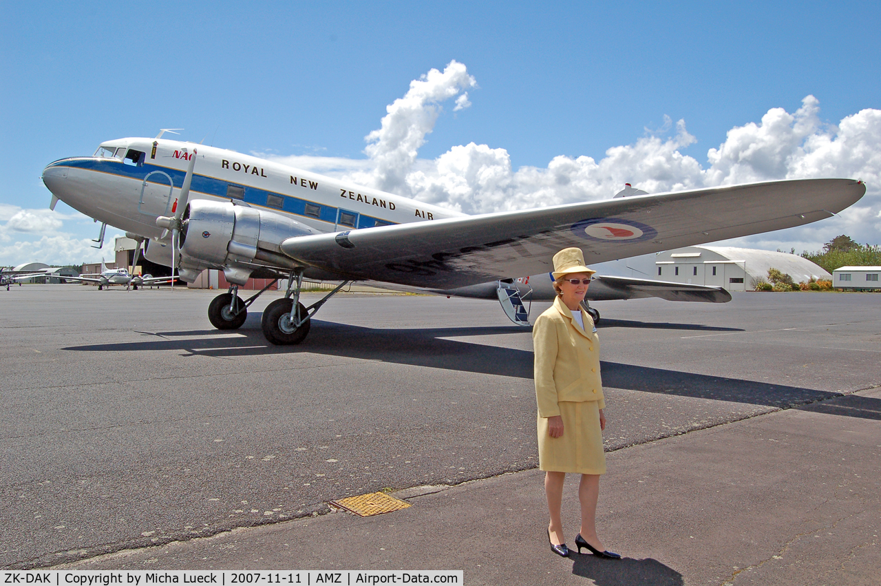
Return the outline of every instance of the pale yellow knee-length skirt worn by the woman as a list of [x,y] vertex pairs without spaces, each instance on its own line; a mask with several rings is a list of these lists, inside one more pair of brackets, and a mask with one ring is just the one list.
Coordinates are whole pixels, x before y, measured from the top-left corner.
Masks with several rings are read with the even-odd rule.
[[548,435],[548,420],[538,418],[538,468],[552,472],[605,474],[603,431],[597,401],[561,401],[563,435]]

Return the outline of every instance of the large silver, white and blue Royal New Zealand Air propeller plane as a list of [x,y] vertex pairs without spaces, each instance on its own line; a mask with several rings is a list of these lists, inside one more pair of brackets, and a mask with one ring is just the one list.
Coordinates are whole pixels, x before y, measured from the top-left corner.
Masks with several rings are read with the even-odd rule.
[[[552,300],[551,257],[578,247],[587,262],[802,226],[858,201],[862,181],[761,182],[649,195],[627,187],[591,203],[469,216],[213,146],[130,137],[101,143],[92,156],[43,170],[52,193],[104,226],[144,239],[144,257],[193,282],[224,272],[231,284],[208,308],[220,330],[244,323],[248,278],[287,279],[285,296],[261,321],[272,344],[299,344],[311,318],[352,281],[396,290],[498,299],[529,325],[523,300]],[[522,277],[528,275],[527,277]],[[518,278],[518,276],[521,276]],[[339,285],[306,308],[303,279]],[[725,302],[718,287],[600,276],[589,300],[661,297]],[[586,308],[599,318],[596,308]]]

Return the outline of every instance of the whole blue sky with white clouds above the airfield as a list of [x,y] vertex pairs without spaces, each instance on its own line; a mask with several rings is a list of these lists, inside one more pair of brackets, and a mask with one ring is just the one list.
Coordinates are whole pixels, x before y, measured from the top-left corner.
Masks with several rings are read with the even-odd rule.
[[0,265],[111,258],[41,171],[162,128],[467,213],[858,178],[725,244],[881,243],[881,4],[611,4],[0,0]]

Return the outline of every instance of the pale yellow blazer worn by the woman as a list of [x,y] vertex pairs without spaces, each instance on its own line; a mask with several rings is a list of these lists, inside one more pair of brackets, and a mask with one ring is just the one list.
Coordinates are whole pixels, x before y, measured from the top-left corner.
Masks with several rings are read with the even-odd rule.
[[579,311],[589,331],[581,329],[559,296],[532,327],[539,417],[559,415],[559,401],[599,401],[605,408],[600,338],[590,315]]

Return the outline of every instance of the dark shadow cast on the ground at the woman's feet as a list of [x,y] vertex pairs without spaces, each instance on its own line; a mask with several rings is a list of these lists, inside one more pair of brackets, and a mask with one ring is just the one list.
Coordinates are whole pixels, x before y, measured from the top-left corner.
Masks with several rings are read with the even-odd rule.
[[589,578],[596,586],[622,586],[626,584],[650,584],[651,586],[682,586],[682,575],[660,561],[646,558],[633,560],[601,560],[590,553],[570,553],[574,564],[572,573]]

